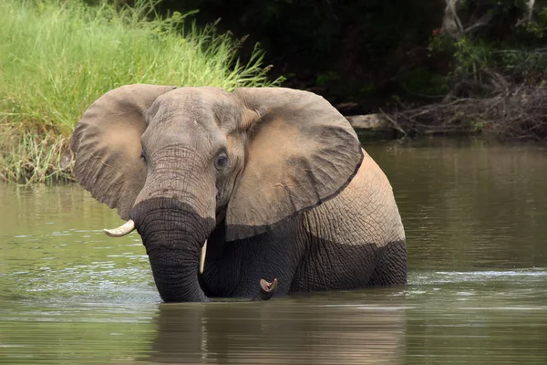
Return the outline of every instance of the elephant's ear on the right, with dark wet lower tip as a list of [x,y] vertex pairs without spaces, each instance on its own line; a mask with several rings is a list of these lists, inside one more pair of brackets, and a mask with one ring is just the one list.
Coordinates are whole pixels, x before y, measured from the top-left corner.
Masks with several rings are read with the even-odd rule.
[[322,97],[284,88],[233,94],[243,103],[249,141],[228,204],[228,241],[259,235],[334,197],[363,160],[355,130]]

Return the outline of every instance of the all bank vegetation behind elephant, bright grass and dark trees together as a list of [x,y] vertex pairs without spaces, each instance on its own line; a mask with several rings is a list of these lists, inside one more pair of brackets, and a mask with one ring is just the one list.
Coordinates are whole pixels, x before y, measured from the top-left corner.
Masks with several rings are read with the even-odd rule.
[[70,180],[79,116],[133,82],[233,89],[283,74],[410,134],[545,139],[546,3],[0,0],[0,179]]

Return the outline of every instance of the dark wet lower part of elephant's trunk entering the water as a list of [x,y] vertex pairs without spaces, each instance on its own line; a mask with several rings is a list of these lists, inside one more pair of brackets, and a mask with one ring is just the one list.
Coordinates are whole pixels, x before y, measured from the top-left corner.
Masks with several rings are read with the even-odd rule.
[[200,286],[201,247],[215,221],[174,199],[154,198],[135,206],[133,219],[165,302],[208,301]]

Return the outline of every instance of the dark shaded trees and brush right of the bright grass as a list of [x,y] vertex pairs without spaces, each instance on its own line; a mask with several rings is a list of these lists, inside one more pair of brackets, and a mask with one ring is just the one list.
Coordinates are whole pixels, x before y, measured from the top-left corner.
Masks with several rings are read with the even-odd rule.
[[[535,108],[547,79],[547,0],[161,5],[164,14],[198,8],[200,22],[222,17],[224,29],[264,45],[274,73],[288,77],[284,85],[318,92],[343,113],[386,110],[392,119],[408,117],[399,124],[409,132],[427,131],[433,123],[435,131],[547,139],[547,115]],[[492,111],[522,106],[523,99],[533,102]]]

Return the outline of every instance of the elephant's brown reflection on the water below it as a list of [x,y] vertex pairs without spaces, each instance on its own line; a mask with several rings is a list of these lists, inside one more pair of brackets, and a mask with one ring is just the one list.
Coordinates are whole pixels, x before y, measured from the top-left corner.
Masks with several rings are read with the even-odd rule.
[[[391,295],[387,293],[387,297]],[[400,359],[404,353],[404,308],[370,304],[363,294],[334,299],[164,305],[157,318],[158,337],[150,360],[377,364]],[[388,304],[386,299],[377,299]],[[340,301],[345,304],[340,306]]]

